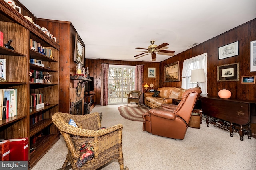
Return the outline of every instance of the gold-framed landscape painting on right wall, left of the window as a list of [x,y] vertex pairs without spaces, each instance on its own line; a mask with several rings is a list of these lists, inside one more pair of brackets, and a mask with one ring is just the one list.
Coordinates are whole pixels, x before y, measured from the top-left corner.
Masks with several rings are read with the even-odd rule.
[[164,82],[180,81],[180,61],[164,66]]

